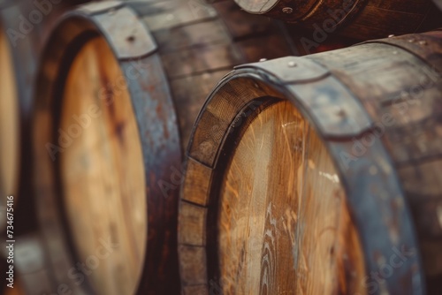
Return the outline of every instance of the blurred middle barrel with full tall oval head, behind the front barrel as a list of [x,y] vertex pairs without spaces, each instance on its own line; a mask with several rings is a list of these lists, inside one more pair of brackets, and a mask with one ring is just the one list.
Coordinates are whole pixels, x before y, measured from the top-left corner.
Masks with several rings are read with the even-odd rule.
[[59,21],[34,116],[52,292],[179,293],[178,188],[194,119],[233,65],[292,52],[272,21],[248,20],[232,3],[172,0],[87,4]]

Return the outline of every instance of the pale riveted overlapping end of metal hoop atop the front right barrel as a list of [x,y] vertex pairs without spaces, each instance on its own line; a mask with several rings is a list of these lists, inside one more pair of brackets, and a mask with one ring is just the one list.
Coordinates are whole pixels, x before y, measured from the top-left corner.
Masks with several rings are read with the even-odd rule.
[[[305,57],[283,57],[268,62],[244,64],[235,69],[260,69],[278,79],[296,95],[316,118],[324,137],[353,137],[371,128],[372,119],[362,104],[328,69]],[[320,80],[320,85],[311,83]],[[319,83],[316,83],[319,84]]]

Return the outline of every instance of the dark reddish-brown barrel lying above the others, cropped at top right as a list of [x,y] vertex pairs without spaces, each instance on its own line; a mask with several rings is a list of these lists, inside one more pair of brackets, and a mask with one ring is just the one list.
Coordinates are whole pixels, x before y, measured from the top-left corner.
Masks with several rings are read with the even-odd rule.
[[[390,34],[424,32],[442,26],[442,14],[430,0],[419,1],[280,1],[235,0],[245,11],[284,19],[314,29],[309,42],[324,42],[330,34],[359,40]],[[305,40],[304,42],[308,42]]]

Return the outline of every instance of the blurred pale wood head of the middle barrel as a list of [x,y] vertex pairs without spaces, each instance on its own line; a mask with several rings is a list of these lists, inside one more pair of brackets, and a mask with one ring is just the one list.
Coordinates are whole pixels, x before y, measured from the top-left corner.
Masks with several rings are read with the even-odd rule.
[[[88,124],[80,127],[76,117]],[[98,257],[88,275],[98,294],[132,294],[146,248],[145,172],[125,79],[103,38],[88,42],[73,61],[60,129],[78,132],[61,156],[61,177],[80,262]],[[103,250],[103,241],[116,247]]]

